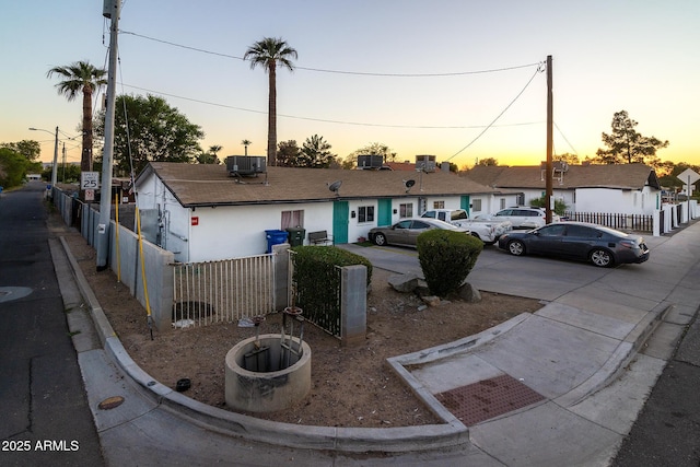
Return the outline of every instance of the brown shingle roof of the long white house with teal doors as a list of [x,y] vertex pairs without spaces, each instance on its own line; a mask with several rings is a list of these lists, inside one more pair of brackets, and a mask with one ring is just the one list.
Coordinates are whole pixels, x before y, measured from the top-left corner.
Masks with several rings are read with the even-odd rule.
[[[224,165],[172,162],[151,162],[137,178],[137,188],[150,173],[163,180],[184,207],[327,201],[336,199],[328,189],[336,180],[342,182],[337,199],[499,192],[472,179],[440,171],[421,175],[394,171],[267,167],[267,175],[234,178],[229,176]],[[407,194],[404,182],[408,179],[416,184]]]

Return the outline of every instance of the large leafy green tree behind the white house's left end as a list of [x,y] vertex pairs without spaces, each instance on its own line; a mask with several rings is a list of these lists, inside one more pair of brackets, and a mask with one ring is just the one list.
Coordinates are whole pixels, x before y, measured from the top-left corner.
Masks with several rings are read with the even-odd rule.
[[[114,161],[121,173],[130,173],[129,155],[138,174],[150,161],[192,162],[202,152],[198,140],[205,132],[164,98],[120,95],[116,108],[126,108],[128,116],[127,132],[125,113],[115,114]],[[101,136],[104,135],[104,113],[102,116],[97,122]]]

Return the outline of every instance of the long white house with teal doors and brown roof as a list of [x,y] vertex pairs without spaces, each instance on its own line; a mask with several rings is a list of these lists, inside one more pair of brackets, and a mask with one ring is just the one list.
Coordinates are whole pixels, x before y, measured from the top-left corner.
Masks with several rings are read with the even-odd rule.
[[223,165],[165,162],[150,163],[136,188],[144,232],[183,262],[264,253],[266,230],[302,227],[305,244],[326,231],[343,244],[427,209],[490,213],[510,196],[441,171],[267,167],[232,177]]

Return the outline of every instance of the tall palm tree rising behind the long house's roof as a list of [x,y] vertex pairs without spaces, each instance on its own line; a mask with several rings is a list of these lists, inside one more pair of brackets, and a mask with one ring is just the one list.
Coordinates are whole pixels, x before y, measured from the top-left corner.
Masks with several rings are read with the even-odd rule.
[[277,66],[278,63],[294,71],[291,59],[298,54],[285,40],[277,37],[265,37],[253,44],[243,56],[250,60],[250,68],[262,66],[269,77],[269,98],[267,114],[267,163],[275,165],[277,159]]

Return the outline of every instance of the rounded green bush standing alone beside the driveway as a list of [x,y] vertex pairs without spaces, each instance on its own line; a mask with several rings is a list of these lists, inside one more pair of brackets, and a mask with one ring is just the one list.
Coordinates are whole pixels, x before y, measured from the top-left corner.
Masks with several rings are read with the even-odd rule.
[[483,250],[483,242],[462,232],[432,229],[418,236],[417,247],[430,291],[446,296],[469,276]]

